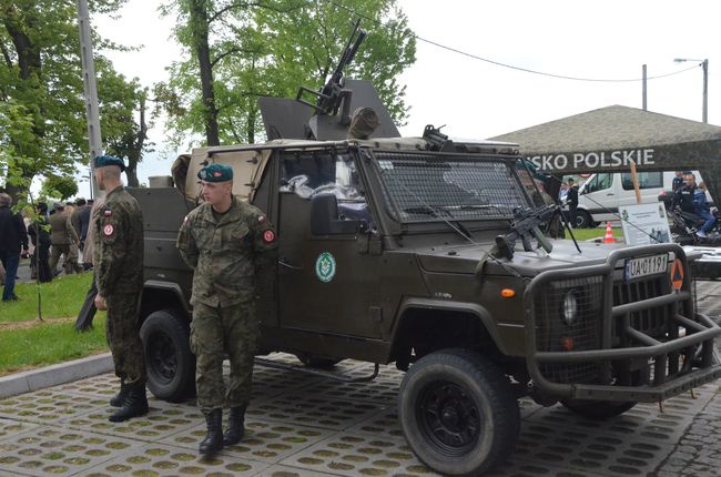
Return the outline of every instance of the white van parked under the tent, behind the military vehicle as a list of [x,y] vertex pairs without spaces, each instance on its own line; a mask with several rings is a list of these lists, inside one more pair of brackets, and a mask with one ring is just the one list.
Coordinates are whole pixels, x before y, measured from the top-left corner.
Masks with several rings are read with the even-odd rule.
[[[693,171],[695,183],[702,181],[699,171]],[[659,201],[661,191],[671,191],[673,171],[639,172],[639,191],[641,203],[649,204]],[[707,200],[711,195],[707,192]],[[630,172],[601,172],[592,174],[579,187],[576,223],[579,227],[592,226],[597,223],[617,221],[618,207],[636,204],[636,192]]]

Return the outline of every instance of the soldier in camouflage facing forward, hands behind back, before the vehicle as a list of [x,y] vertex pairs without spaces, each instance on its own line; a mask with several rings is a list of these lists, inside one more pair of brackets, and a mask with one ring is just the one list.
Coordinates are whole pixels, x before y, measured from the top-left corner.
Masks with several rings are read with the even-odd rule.
[[[207,423],[200,453],[214,454],[243,438],[260,335],[255,282],[258,272],[271,270],[277,244],[263,212],[233,196],[231,168],[211,164],[197,176],[205,202],[185,217],[177,248],[195,271],[191,349],[197,358],[197,404]],[[227,387],[225,354],[231,362]],[[224,435],[223,407],[231,408]]]

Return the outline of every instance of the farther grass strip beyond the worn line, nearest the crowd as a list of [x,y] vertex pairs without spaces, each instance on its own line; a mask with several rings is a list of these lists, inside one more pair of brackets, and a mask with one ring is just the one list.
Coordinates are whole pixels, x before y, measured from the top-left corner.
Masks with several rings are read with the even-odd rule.
[[[92,273],[82,275],[61,275],[49,283],[40,284],[43,318],[65,318],[78,316],[92,282]],[[18,302],[0,303],[0,323],[23,322],[38,317],[38,285],[19,283],[16,285]]]

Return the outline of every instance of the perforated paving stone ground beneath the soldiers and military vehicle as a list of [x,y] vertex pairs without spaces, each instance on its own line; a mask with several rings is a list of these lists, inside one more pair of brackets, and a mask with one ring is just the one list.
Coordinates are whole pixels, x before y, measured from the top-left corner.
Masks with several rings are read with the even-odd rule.
[[[721,315],[721,282],[699,283],[699,308]],[[293,361],[275,354],[274,359]],[[372,365],[345,361],[362,376]],[[108,422],[115,378],[104,374],[0,400],[0,477],[6,476],[434,476],[408,448],[393,366],[366,384],[255,368],[247,437],[201,459],[204,422],[194,402],[150,399],[148,416]],[[597,423],[561,406],[521,400],[516,450],[490,476],[721,475],[721,393],[709,384]]]

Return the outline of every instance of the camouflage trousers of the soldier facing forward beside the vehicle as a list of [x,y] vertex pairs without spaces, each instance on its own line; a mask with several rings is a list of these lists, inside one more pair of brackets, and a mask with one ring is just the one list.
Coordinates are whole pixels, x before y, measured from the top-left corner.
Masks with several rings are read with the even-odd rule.
[[[245,406],[251,402],[253,359],[258,338],[260,326],[253,302],[226,308],[202,303],[193,305],[191,351],[196,357],[197,406],[203,413]],[[223,380],[225,354],[231,362],[227,387]]]

